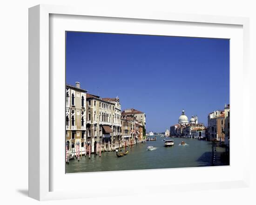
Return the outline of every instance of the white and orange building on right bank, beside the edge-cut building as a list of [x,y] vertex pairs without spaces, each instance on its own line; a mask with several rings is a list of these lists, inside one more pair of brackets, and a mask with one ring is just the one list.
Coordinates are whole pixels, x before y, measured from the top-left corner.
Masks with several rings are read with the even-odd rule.
[[217,110],[208,114],[208,140],[224,141],[225,113]]

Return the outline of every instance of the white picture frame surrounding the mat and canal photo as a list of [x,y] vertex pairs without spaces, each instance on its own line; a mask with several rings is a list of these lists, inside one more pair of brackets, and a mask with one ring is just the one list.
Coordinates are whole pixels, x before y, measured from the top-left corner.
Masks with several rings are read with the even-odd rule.
[[[201,26],[204,25],[221,25],[222,27],[228,25],[241,26],[243,32],[243,42],[242,49],[243,52],[238,53],[243,55],[240,59],[243,59],[241,70],[243,72],[243,87],[240,86],[241,92],[243,94],[243,99],[240,104],[237,104],[236,109],[241,109],[242,112],[249,107],[249,82],[247,81],[249,73],[249,19],[241,17],[223,17],[223,16],[210,16],[210,15],[194,15],[194,14],[175,14],[175,13],[161,13],[161,12],[133,12],[133,11],[100,11],[92,8],[79,8],[71,6],[52,6],[52,5],[38,5],[29,9],[29,197],[37,200],[51,200],[51,199],[72,199],[72,198],[88,198],[88,197],[98,197],[99,192],[94,192],[94,189],[79,191],[69,190],[68,188],[63,188],[62,190],[54,190],[51,187],[51,183],[54,180],[52,174],[52,167],[55,166],[51,160],[51,156],[54,155],[52,150],[52,139],[51,133],[51,122],[52,119],[51,112],[53,112],[54,106],[51,105],[52,91],[51,79],[54,74],[51,73],[49,61],[50,51],[50,15],[73,15],[79,17],[102,17],[108,20],[109,18],[115,19],[132,19],[133,22],[139,21],[141,19],[147,21],[154,21],[156,24],[161,22],[175,22],[177,24],[182,22],[189,23],[200,23]],[[217,37],[216,37],[217,38]],[[64,44],[64,42],[63,42]],[[232,50],[231,50],[232,51]],[[233,55],[232,53],[230,55]],[[232,65],[233,66],[233,65]],[[241,73],[240,73],[241,74]],[[230,81],[232,81],[232,75],[230,75]],[[232,88],[230,88],[231,90]],[[230,94],[232,97],[232,93]],[[232,105],[231,105],[232,106]],[[240,107],[239,107],[240,106]],[[65,110],[63,109],[63,112]],[[232,110],[233,112],[233,110]],[[249,119],[249,114],[243,112],[242,117],[242,127],[245,126],[245,119]],[[63,118],[64,119],[64,118]],[[232,121],[232,117],[230,119]],[[234,120],[235,123],[235,120]],[[233,127],[234,128],[234,127]],[[232,127],[231,133],[232,133]],[[64,138],[64,135],[63,135]],[[249,129],[244,129],[243,139],[241,139],[241,144],[249,141]],[[63,147],[64,148],[64,147]],[[231,147],[232,149],[232,147]],[[185,180],[180,180],[180,182],[162,183],[162,181],[155,181],[153,185],[148,185],[141,179],[141,183],[144,183],[143,191],[148,192],[150,188],[157,186],[157,192],[166,192],[166,187],[168,186],[168,192],[171,190],[184,191],[184,190],[205,190],[205,189],[218,189],[218,188],[231,188],[231,187],[248,187],[249,186],[249,149],[244,146],[243,149],[243,167],[239,172],[239,176],[230,178],[228,180],[219,180],[216,178],[213,181],[199,181],[186,182]],[[234,151],[235,153],[235,151]],[[62,153],[60,153],[61,155]],[[232,155],[232,152],[231,152]],[[55,155],[54,155],[55,156]],[[64,152],[63,152],[64,157]],[[232,167],[232,164],[231,166]],[[219,172],[222,167],[215,167],[208,169],[210,172],[215,170]],[[227,168],[228,169],[228,168]],[[193,169],[175,169],[182,173],[193,172]],[[176,172],[172,169],[172,173]],[[201,170],[202,171],[202,170]],[[207,171],[207,170],[206,170]],[[54,172],[55,171],[54,169]],[[144,171],[145,172],[145,171]],[[161,174],[166,174],[170,172],[170,169],[164,170],[151,170],[151,174],[161,172]],[[61,173],[63,175],[63,173]],[[65,173],[64,173],[65,174]],[[115,172],[108,173],[86,173],[88,176],[95,177],[96,180],[100,180],[106,177],[106,175],[113,175]],[[130,174],[131,177],[141,174],[140,172],[119,172],[119,174]],[[69,175],[68,178],[75,177]],[[63,179],[63,178],[62,178]],[[61,180],[61,179],[60,179]],[[82,180],[82,179],[81,179]],[[57,182],[58,183],[58,182]],[[63,185],[60,184],[63,187]],[[57,187],[57,186],[56,186]],[[110,185],[110,187],[115,188],[115,185]],[[134,189],[125,190],[125,195],[136,194]],[[101,196],[109,196],[111,194],[100,192]],[[112,196],[123,195],[123,192],[115,192]]]

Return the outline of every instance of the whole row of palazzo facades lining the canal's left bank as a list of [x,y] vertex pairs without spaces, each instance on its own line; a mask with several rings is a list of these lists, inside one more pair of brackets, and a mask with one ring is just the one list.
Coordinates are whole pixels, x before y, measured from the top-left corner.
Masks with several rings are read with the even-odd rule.
[[[80,83],[66,85],[66,152],[80,154],[114,151],[143,142],[146,115],[138,110],[128,118],[116,98],[101,98],[81,89]],[[137,116],[137,118],[135,117]]]

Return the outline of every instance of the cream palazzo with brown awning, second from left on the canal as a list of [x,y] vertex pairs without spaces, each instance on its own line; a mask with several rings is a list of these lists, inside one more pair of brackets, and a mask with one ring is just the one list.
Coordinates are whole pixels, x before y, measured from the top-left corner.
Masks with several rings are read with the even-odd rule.
[[[121,138],[121,104],[118,98],[101,98],[87,95],[87,146],[91,152],[114,150]],[[98,144],[98,146],[97,146]],[[88,148],[88,147],[87,147]]]

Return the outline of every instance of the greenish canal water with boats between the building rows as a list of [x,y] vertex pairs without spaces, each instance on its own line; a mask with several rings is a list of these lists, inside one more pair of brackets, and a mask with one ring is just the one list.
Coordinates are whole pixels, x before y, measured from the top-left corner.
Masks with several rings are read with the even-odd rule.
[[[164,147],[163,139],[172,139],[175,145]],[[187,145],[179,145],[181,141]],[[148,151],[148,146],[156,149]],[[70,160],[66,164],[66,173],[212,166],[212,143],[209,141],[157,136],[156,141],[127,147],[127,150],[128,154],[123,157],[117,157],[115,152],[102,152],[101,157],[92,154],[90,160],[88,155],[80,161]],[[216,147],[215,166],[229,165],[228,160],[221,157],[224,152],[225,148]]]

